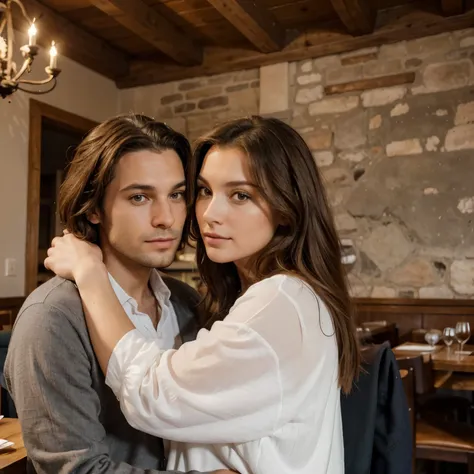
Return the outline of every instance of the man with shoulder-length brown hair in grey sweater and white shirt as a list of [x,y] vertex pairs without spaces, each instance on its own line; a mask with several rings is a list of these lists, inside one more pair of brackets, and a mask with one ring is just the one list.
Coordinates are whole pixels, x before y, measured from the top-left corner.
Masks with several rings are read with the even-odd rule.
[[[197,294],[156,270],[171,264],[186,237],[189,155],[186,138],[165,124],[115,117],[79,145],[60,192],[66,228],[99,244],[128,317],[168,349],[198,330]],[[132,428],[105,385],[72,282],[55,277],[27,298],[5,375],[38,474],[166,469],[163,441]]]

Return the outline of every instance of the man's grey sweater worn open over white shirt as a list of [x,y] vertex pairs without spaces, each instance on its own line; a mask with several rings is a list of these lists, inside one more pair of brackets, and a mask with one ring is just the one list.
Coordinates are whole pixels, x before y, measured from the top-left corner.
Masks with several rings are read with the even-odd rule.
[[[192,340],[197,294],[178,280],[165,282],[181,336]],[[38,474],[163,472],[162,441],[132,428],[105,385],[73,283],[55,277],[26,299],[5,378]]]

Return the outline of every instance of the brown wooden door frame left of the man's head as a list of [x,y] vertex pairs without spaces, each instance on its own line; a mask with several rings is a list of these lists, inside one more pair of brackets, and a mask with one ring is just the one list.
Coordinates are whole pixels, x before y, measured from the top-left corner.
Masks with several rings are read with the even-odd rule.
[[38,234],[41,181],[42,121],[49,119],[58,126],[85,134],[96,122],[66,112],[36,99],[30,99],[30,130],[28,144],[28,201],[26,211],[25,292],[36,288],[38,277]]

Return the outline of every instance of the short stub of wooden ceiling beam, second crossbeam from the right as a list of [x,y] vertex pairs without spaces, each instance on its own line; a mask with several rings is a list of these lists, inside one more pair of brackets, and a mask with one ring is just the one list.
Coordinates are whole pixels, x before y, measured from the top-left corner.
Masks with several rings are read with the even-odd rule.
[[352,35],[367,35],[375,26],[377,11],[370,0],[331,0],[347,31]]

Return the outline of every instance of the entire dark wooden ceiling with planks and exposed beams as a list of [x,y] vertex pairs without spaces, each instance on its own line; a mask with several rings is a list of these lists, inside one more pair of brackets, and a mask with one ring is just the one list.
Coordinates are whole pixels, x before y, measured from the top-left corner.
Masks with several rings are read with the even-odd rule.
[[[23,0],[38,39],[134,87],[474,24],[468,0]],[[21,22],[17,28],[25,29]]]

